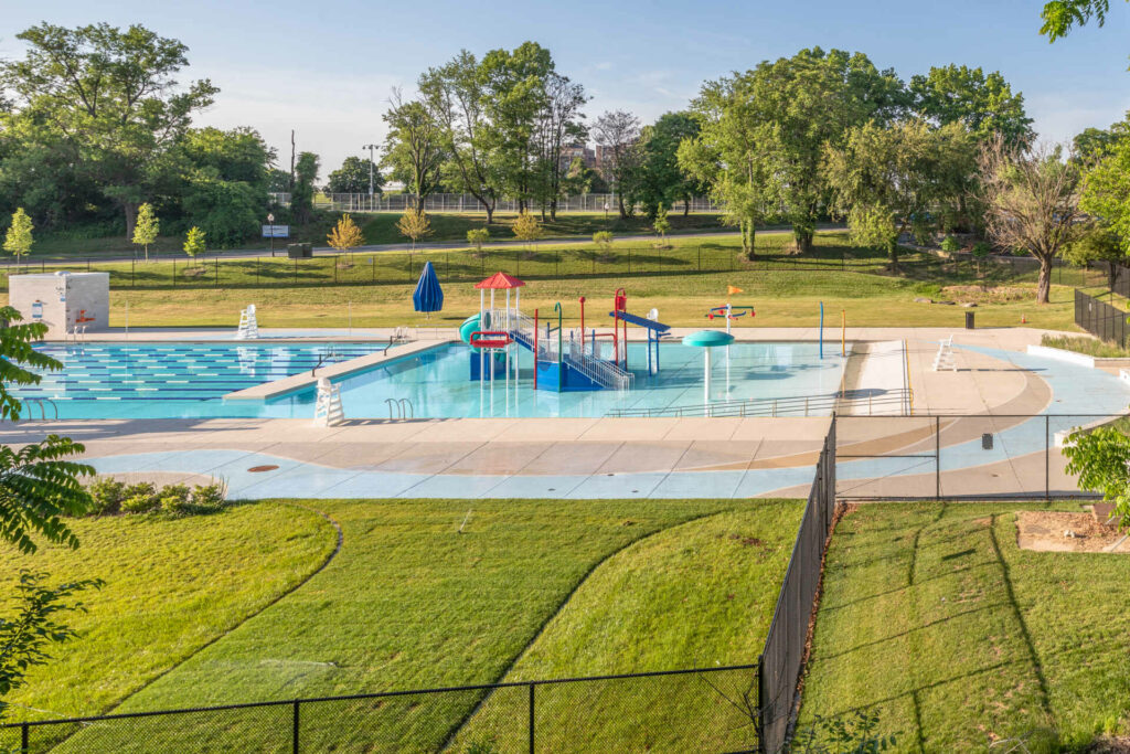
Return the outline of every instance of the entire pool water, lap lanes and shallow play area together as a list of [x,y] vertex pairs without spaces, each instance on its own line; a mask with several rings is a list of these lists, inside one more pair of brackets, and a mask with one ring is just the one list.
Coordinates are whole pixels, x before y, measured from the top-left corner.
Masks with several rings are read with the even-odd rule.
[[[61,372],[17,391],[50,400],[60,418],[312,417],[314,389],[266,401],[226,400],[228,392],[383,350],[384,344],[80,344],[46,345],[43,353],[63,362]],[[644,344],[631,344],[635,374],[629,391],[557,393],[534,390],[532,355],[514,349],[511,379],[499,370],[494,382],[470,379],[469,349],[446,344],[392,359],[341,379],[348,418],[389,418],[389,401],[410,405],[416,418],[599,417],[615,410],[701,406],[703,352],[660,346],[658,374],[646,371]],[[834,352],[829,354],[828,352]],[[815,343],[734,344],[716,348],[711,401],[827,396],[843,375],[838,347],[822,359]],[[38,409],[32,411],[38,417]],[[53,413],[46,409],[47,415]],[[814,414],[816,411],[814,410]],[[26,413],[25,413],[26,416]]]

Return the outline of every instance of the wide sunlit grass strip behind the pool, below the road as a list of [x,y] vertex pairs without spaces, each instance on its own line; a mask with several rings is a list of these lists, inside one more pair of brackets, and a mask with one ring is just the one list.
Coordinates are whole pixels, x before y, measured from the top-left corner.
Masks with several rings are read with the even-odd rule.
[[[1016,326],[1026,319],[1033,327],[1071,330],[1072,286],[1088,280],[1083,270],[1057,270],[1052,303],[1037,306],[1031,266],[986,265],[979,275],[970,263],[942,263],[907,253],[899,271],[893,274],[881,254],[853,246],[845,233],[819,234],[816,251],[805,257],[786,253],[790,241],[788,234],[759,235],[755,262],[745,261],[738,240],[725,236],[706,242],[671,239],[671,248],[662,250],[617,244],[603,252],[545,244],[537,251],[496,250],[481,257],[464,250],[355,254],[297,263],[269,258],[228,260],[198,266],[201,271],[191,277],[184,276],[184,262],[179,262],[175,278],[169,262],[103,267],[113,270],[111,324],[115,327],[125,324],[128,304],[131,327],[234,328],[240,310],[249,303],[257,304],[261,327],[341,328],[350,321],[350,311],[355,327],[457,326],[478,311],[472,283],[502,269],[528,281],[522,292],[528,311],[550,311],[560,301],[570,326],[579,322],[577,297],[588,297],[602,317],[608,311],[602,311],[605,302],[610,303],[620,286],[628,291],[629,309],[654,306],[670,324],[702,324],[710,307],[724,303],[727,286],[737,285],[746,293],[734,303],[757,306],[757,318],[742,321],[744,326],[811,327],[817,323],[820,302],[832,324],[838,323],[842,310],[849,326],[962,326],[965,310],[914,301],[925,296],[976,301],[980,326]],[[429,319],[411,307],[411,292],[425,260],[436,266],[445,295],[444,311]],[[982,284],[996,289],[944,289]]]

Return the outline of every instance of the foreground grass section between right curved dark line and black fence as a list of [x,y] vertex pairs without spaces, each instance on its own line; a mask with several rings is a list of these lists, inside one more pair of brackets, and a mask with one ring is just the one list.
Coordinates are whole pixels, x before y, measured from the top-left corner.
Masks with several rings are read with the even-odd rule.
[[[503,681],[756,662],[802,512],[800,501],[758,501],[634,543],[593,571]],[[539,686],[537,738],[555,752],[753,749],[753,721],[731,702],[755,683],[742,670]],[[493,694],[455,751],[521,748],[527,707],[513,690]]]

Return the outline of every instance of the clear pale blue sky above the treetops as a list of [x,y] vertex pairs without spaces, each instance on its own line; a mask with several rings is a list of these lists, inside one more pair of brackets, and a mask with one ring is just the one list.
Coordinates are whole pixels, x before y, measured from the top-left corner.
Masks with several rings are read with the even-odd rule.
[[289,155],[322,156],[322,175],[384,135],[393,86],[461,47],[477,54],[533,40],[559,71],[584,84],[590,119],[627,109],[645,120],[686,105],[702,81],[820,45],[867,53],[909,79],[949,62],[1000,70],[1025,95],[1041,136],[1063,140],[1109,125],[1130,109],[1130,6],[1112,3],[1106,27],[1050,45],[1037,34],[1038,0],[190,0],[2,3],[0,55],[15,35],[47,20],[69,26],[142,23],[190,47],[184,78],[220,87],[200,120],[253,125]]

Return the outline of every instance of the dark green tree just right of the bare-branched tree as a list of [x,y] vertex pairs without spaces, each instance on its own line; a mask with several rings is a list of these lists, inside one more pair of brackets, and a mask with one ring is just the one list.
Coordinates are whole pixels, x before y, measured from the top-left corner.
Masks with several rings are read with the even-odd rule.
[[673,207],[683,202],[683,215],[690,214],[690,200],[706,191],[702,181],[688,175],[679,166],[679,145],[695,139],[699,133],[698,121],[690,113],[664,113],[640,135],[642,150],[638,196],[649,215],[661,206]]

